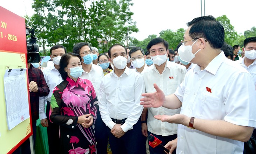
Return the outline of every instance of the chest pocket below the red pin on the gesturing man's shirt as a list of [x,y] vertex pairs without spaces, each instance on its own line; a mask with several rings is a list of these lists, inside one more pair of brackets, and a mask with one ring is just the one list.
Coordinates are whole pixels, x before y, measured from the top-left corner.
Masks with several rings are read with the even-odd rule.
[[207,93],[201,94],[198,103],[198,105],[200,105],[198,108],[201,109],[201,111],[196,113],[196,117],[217,120],[220,112],[220,102],[221,98],[217,96]]

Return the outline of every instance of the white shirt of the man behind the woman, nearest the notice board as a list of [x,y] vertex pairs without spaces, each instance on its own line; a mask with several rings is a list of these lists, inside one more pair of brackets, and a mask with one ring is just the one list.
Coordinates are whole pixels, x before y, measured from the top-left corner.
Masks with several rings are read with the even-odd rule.
[[45,77],[45,81],[49,87],[49,94],[45,97],[39,97],[39,116],[40,120],[46,119],[45,114],[45,106],[46,101],[50,102],[50,99],[52,97],[53,89],[60,84],[63,79],[60,76],[59,71],[55,68],[54,64],[51,64],[49,67],[42,69],[43,76]]

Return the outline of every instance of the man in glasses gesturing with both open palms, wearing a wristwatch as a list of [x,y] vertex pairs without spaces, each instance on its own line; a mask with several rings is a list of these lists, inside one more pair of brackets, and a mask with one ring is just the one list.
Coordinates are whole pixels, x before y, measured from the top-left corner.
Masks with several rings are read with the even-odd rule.
[[[243,142],[256,127],[256,92],[250,73],[227,59],[220,48],[224,28],[213,16],[187,23],[179,48],[183,61],[197,64],[174,94],[145,93],[144,107],[167,107],[181,113],[156,119],[178,125],[177,153],[243,154]],[[237,83],[237,84],[234,84]],[[243,97],[240,93],[243,91]],[[170,145],[166,147],[170,149]]]

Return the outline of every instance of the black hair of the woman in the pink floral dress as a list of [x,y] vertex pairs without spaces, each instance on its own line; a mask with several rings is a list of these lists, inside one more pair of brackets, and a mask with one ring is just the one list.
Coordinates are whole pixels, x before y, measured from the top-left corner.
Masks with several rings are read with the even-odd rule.
[[82,61],[82,58],[79,54],[75,54],[73,52],[69,52],[63,56],[61,56],[60,58],[60,69],[59,69],[59,72],[60,72],[60,75],[62,77],[63,80],[66,80],[67,76],[68,76],[68,73],[65,72],[65,68],[67,67],[68,63],[69,63],[69,59],[71,57],[78,57],[80,59],[80,62]]

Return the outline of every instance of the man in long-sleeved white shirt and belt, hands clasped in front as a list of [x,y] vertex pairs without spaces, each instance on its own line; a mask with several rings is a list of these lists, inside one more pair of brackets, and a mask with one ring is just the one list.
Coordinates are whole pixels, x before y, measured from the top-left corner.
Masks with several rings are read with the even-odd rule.
[[99,106],[102,120],[108,127],[111,151],[113,154],[146,153],[140,143],[143,79],[126,66],[128,56],[123,45],[112,45],[108,55],[114,70],[101,81]]

